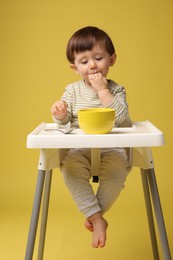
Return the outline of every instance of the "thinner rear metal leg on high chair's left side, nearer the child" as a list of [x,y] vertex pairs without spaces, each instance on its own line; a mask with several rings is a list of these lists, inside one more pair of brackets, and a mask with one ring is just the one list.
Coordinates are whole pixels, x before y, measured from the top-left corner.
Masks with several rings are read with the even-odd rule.
[[38,248],[38,258],[37,258],[38,260],[42,260],[44,254],[51,180],[52,180],[52,170],[46,172],[44,199],[43,199],[43,208],[42,208],[42,221],[41,221],[40,240],[39,240],[39,248]]

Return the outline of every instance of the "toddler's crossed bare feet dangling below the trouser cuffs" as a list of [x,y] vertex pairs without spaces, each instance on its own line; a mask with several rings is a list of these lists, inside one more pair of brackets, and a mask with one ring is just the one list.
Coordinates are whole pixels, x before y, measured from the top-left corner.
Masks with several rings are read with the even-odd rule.
[[108,223],[102,214],[98,212],[90,216],[85,224],[90,231],[93,231],[92,246],[94,248],[104,247],[106,244],[106,229]]

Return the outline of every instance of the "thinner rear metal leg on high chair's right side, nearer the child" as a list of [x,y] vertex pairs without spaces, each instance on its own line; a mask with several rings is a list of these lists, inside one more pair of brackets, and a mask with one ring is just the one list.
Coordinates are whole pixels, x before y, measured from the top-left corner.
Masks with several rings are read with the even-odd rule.
[[153,257],[155,260],[159,260],[159,251],[158,251],[158,245],[157,245],[157,239],[156,239],[154,218],[153,218],[153,213],[152,213],[152,205],[151,205],[151,198],[150,198],[150,191],[149,191],[149,186],[148,186],[148,178],[147,178],[146,170],[141,169],[141,177],[142,177],[145,204],[146,204],[146,210],[147,210],[147,216],[148,216],[148,224],[149,224],[149,230],[150,230]]

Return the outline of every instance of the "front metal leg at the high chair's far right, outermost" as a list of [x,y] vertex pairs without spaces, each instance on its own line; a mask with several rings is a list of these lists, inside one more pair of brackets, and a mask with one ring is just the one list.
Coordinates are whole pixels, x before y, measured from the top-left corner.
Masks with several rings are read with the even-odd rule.
[[157,187],[154,169],[148,169],[147,175],[148,175],[148,182],[150,185],[150,191],[151,191],[151,195],[152,195],[153,206],[154,206],[154,210],[155,210],[155,217],[156,217],[156,221],[157,221],[157,225],[158,225],[158,231],[159,231],[159,235],[160,235],[164,260],[171,260],[171,254],[170,254],[168,238],[167,238],[167,234],[166,234],[166,228],[165,228],[165,223],[164,223],[164,218],[163,218],[159,191],[158,191],[158,187]]

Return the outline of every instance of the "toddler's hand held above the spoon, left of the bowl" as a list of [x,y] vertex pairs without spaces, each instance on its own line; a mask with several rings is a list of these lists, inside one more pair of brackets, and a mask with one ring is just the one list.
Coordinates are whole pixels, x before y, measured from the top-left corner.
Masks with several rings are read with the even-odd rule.
[[64,100],[56,101],[51,107],[52,115],[58,120],[64,119],[67,115],[67,107],[68,105]]

